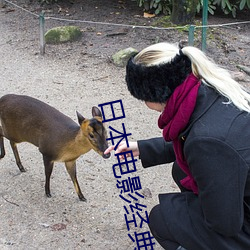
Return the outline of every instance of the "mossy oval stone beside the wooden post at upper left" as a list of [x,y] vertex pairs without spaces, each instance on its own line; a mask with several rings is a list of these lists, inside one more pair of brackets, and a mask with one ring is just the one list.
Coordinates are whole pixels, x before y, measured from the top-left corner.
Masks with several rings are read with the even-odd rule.
[[48,30],[45,33],[45,42],[47,44],[59,44],[65,42],[74,42],[82,36],[82,31],[77,26],[61,26]]

